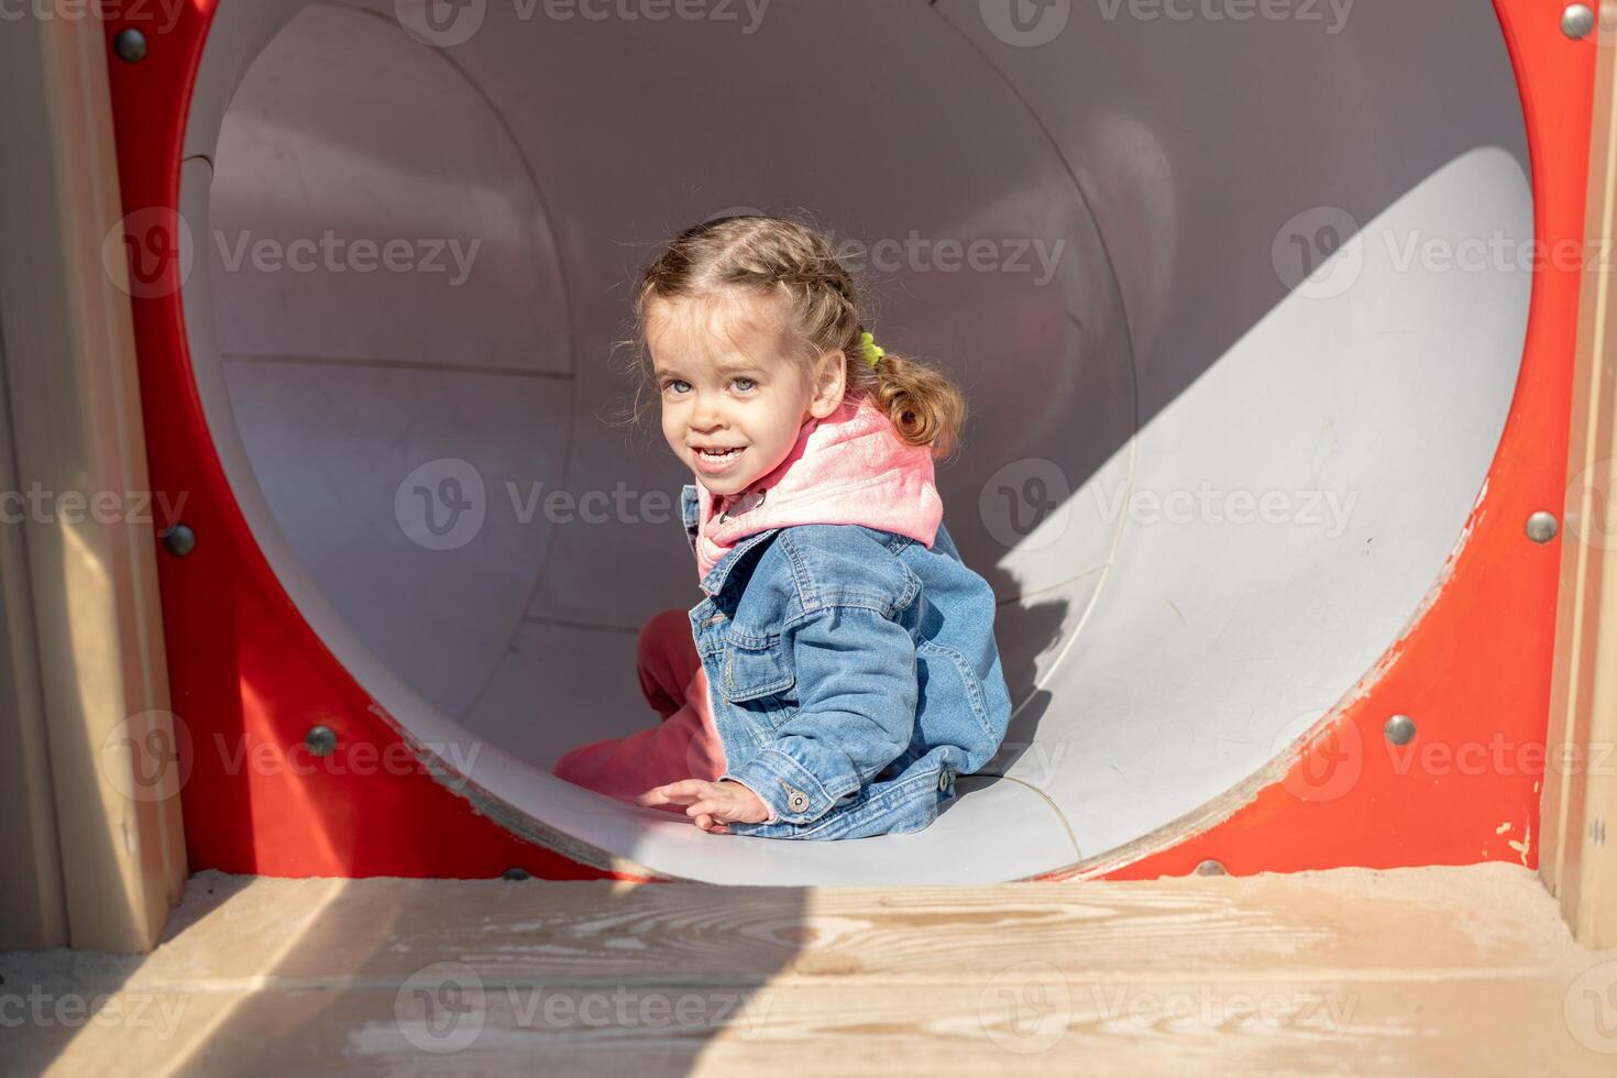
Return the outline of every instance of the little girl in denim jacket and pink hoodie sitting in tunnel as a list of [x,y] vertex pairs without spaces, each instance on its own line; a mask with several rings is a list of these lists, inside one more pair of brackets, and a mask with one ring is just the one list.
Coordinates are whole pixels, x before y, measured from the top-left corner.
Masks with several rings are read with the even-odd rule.
[[634,314],[663,436],[694,472],[682,516],[705,598],[640,630],[661,726],[555,773],[713,832],[920,831],[1011,718],[994,596],[933,482],[959,390],[875,344],[830,242],[797,221],[686,229]]

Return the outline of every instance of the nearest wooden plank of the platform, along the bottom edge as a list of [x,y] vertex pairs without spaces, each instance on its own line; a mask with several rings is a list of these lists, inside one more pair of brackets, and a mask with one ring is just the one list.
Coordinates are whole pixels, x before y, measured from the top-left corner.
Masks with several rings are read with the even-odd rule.
[[[509,991],[506,991],[509,989]],[[1562,1021],[1564,981],[939,983],[459,996],[429,1030],[390,987],[123,994],[123,1025],[31,1038],[26,1073],[207,1075],[1557,1075],[1612,1057]],[[621,1002],[619,1002],[621,1000]],[[144,1010],[136,1010],[144,1007]],[[103,1012],[105,1013],[105,1012]],[[624,1020],[627,1017],[627,1020]],[[142,1023],[134,1026],[133,1023]],[[53,1065],[52,1065],[53,1063]],[[49,1067],[49,1068],[47,1068]]]

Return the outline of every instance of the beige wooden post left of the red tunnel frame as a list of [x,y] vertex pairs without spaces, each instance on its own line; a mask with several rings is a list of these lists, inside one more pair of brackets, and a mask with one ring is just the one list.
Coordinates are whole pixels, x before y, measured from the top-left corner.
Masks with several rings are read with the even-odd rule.
[[[102,268],[121,217],[105,63],[97,19],[15,19],[0,34],[0,331],[15,449],[15,475],[0,478],[42,495],[0,546],[0,640],[16,674],[6,695],[23,700],[0,722],[5,743],[29,753],[10,764],[29,771],[27,785],[3,802],[21,815],[0,816],[5,849],[26,853],[21,871],[5,865],[5,913],[29,920],[0,916],[0,947],[60,944],[65,907],[70,945],[146,950],[186,879],[178,795],[134,777],[152,764],[137,758],[144,739],[168,734],[168,680],[155,532],[128,512],[150,488],[129,302],[121,275]],[[118,509],[103,498],[89,511],[102,491]]]

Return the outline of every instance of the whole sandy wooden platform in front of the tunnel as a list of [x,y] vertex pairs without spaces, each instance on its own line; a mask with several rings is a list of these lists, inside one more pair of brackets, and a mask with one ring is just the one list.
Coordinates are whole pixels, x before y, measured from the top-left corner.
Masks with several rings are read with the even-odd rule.
[[1505,865],[914,891],[201,873],[152,955],[0,976],[6,1075],[1617,1075],[1617,952]]

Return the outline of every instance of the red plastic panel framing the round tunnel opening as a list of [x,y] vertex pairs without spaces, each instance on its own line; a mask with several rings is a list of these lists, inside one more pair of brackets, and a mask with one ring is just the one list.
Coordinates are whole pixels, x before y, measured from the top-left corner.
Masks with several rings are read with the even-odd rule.
[[[1536,236],[1578,241],[1594,45],[1567,40],[1557,11],[1536,0],[1496,0],[1496,8],[1522,87]],[[142,229],[178,205],[183,128],[212,13],[212,0],[192,0],[158,31],[149,5],[131,0],[107,21],[125,210],[146,215],[131,218]],[[139,63],[113,52],[126,26],[149,37]],[[608,874],[517,839],[430,777],[294,609],[213,453],[170,247],[144,247],[133,291],[152,486],[167,504],[186,499],[183,519],[197,535],[191,554],[160,553],[158,564],[173,706],[188,734],[179,752],[191,866],[273,876],[479,878],[511,866],[550,879]],[[1562,501],[1577,301],[1575,270],[1536,272],[1512,414],[1467,541],[1413,629],[1284,781],[1197,826],[1048,878],[1180,874],[1206,858],[1232,873],[1536,865],[1560,540],[1533,543],[1523,524]],[[1418,726],[1407,747],[1383,737],[1395,713]],[[336,731],[333,755],[302,748],[315,724]]]

